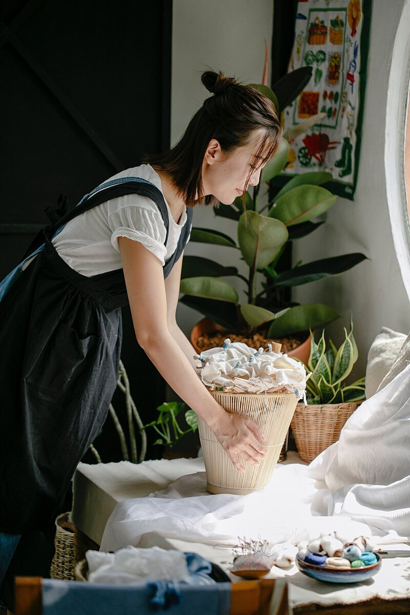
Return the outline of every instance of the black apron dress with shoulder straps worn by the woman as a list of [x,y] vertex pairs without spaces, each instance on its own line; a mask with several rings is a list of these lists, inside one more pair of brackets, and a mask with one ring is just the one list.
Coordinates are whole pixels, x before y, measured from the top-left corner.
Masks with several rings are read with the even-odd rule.
[[[156,186],[132,178],[109,182],[45,229],[44,248],[0,302],[1,532],[21,534],[55,520],[78,462],[106,419],[119,371],[120,308],[128,303],[124,273],[82,276],[51,239],[80,213],[130,193],[157,204],[168,237],[167,206]],[[191,221],[188,208],[164,277],[183,252]]]

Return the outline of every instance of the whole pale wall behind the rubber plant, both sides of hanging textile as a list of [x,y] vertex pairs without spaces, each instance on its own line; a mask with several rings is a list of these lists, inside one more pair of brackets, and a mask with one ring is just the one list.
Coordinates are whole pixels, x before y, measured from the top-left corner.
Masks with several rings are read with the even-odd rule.
[[[410,306],[393,247],[384,180],[384,117],[388,71],[404,0],[373,1],[368,80],[358,186],[355,201],[337,199],[328,221],[298,243],[295,259],[305,262],[347,252],[369,260],[332,279],[299,287],[295,299],[329,303],[342,315],[329,333],[341,341],[340,329],[353,313],[363,375],[369,346],[380,328],[408,332]],[[183,133],[207,91],[200,74],[207,66],[234,74],[244,82],[260,81],[264,38],[272,39],[273,0],[174,0],[171,90],[171,140]],[[232,234],[232,224],[215,218],[209,208],[195,208],[195,226],[214,226]],[[231,248],[191,244],[187,253],[232,263]],[[199,314],[180,306],[178,319],[186,333]]]

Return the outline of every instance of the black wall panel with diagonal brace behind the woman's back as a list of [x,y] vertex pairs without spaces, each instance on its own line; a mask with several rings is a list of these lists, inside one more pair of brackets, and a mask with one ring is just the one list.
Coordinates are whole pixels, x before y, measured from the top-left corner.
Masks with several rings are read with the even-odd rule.
[[[171,0],[0,4],[0,279],[61,192],[74,206],[143,153],[168,147],[171,13]],[[128,309],[122,359],[148,423],[165,385],[136,344]],[[107,425],[96,442],[103,461],[119,458]]]

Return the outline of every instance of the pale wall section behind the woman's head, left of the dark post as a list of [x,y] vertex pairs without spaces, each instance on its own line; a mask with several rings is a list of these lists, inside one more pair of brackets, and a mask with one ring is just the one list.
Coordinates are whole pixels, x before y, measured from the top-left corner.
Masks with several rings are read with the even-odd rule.
[[[264,39],[272,42],[273,0],[174,0],[172,28],[171,143],[183,134],[209,93],[200,80],[208,67],[244,83],[261,82]],[[237,223],[217,218],[210,207],[195,207],[194,226],[218,228],[235,239]],[[227,247],[189,244],[187,254],[238,266],[239,252]],[[202,318],[179,304],[185,333]]]

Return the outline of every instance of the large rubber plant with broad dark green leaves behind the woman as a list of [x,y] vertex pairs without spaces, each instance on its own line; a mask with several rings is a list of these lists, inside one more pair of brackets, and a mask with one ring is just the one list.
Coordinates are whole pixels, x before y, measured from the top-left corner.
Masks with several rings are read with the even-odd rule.
[[[264,83],[250,85],[269,97],[282,114],[306,87],[312,68],[305,66],[286,74],[272,89],[266,85],[266,74],[267,60]],[[336,276],[366,258],[361,253],[352,253],[310,263],[298,262],[291,268],[283,266],[286,247],[321,226],[323,220],[317,220],[318,216],[336,202],[336,196],[323,188],[331,180],[329,173],[305,173],[275,192],[270,188],[267,204],[261,205],[262,188],[266,188],[266,193],[270,180],[288,164],[289,143],[322,117],[323,114],[312,116],[286,132],[286,138],[262,170],[259,185],[246,192],[246,212],[243,212],[242,197],[237,197],[231,205],[215,208],[216,216],[232,221],[231,236],[213,229],[192,229],[191,241],[230,248],[233,264],[185,256],[181,302],[232,333],[250,333],[263,325],[268,338],[281,338],[326,325],[339,316],[334,308],[320,303],[296,304],[284,289]],[[235,267],[239,258],[248,265],[248,276],[240,274]],[[259,289],[258,275],[262,276]],[[235,277],[237,283],[224,279],[229,276]],[[245,292],[243,302],[238,293],[241,285]]]

